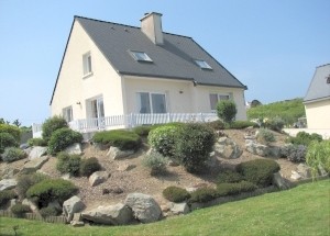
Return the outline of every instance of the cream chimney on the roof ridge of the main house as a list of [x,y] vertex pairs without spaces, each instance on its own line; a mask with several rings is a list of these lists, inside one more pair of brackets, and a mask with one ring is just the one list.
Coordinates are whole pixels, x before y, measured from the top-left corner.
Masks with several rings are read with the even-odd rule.
[[162,14],[151,12],[144,14],[141,21],[141,31],[156,45],[164,44],[162,31]]

